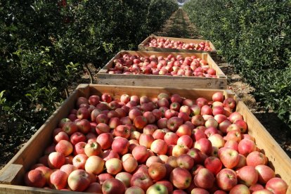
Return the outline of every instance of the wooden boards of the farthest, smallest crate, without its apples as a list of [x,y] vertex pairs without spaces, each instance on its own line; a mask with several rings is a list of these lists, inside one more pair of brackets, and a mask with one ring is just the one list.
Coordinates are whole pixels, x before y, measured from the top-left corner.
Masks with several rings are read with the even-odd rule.
[[[212,48],[212,51],[197,51],[197,50],[188,50],[188,49],[177,49],[177,48],[157,48],[157,47],[150,47],[150,46],[145,46],[150,39],[159,39],[159,38],[164,38],[164,39],[170,39],[174,41],[182,41],[185,43],[194,43],[194,44],[199,44],[201,41],[208,42],[210,45],[210,48]],[[216,58],[217,51],[214,45],[212,44],[211,41],[209,40],[202,40],[202,39],[182,39],[182,38],[174,38],[174,37],[155,37],[155,36],[150,36],[147,37],[144,41],[141,42],[141,44],[138,44],[138,51],[158,51],[158,52],[178,52],[178,53],[209,53],[212,58]]]

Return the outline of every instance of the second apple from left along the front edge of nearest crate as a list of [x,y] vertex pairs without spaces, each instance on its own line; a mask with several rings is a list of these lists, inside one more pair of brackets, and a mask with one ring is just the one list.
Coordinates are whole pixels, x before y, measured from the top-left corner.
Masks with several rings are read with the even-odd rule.
[[53,189],[61,190],[67,187],[67,178],[67,173],[57,169],[51,174],[49,185]]

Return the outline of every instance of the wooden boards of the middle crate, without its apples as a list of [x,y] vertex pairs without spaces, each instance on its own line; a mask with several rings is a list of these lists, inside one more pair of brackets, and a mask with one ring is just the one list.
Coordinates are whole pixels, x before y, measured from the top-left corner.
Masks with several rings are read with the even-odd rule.
[[[121,58],[124,54],[138,56],[163,56],[169,54],[177,56],[197,56],[207,60],[209,67],[216,70],[218,78],[209,77],[188,77],[188,76],[169,76],[169,75],[123,75],[123,74],[108,74],[108,70],[113,66],[113,60]],[[208,53],[169,53],[169,52],[143,52],[143,51],[120,51],[112,58],[98,73],[97,84],[108,85],[127,85],[127,86],[162,86],[162,87],[177,87],[177,88],[200,88],[200,89],[226,89],[227,79],[224,72],[221,71],[214,60]]]

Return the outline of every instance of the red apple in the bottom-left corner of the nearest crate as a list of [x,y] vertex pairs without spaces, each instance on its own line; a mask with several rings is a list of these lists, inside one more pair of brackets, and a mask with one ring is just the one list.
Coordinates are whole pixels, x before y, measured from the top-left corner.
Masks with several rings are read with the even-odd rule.
[[25,185],[42,188],[46,185],[46,176],[40,169],[32,169],[25,174]]

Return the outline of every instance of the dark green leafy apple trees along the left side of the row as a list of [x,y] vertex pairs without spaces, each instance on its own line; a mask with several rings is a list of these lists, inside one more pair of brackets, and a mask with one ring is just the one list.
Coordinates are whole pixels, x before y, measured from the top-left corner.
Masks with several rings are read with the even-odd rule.
[[137,48],[177,8],[172,0],[1,1],[0,145],[33,134],[85,64]]

